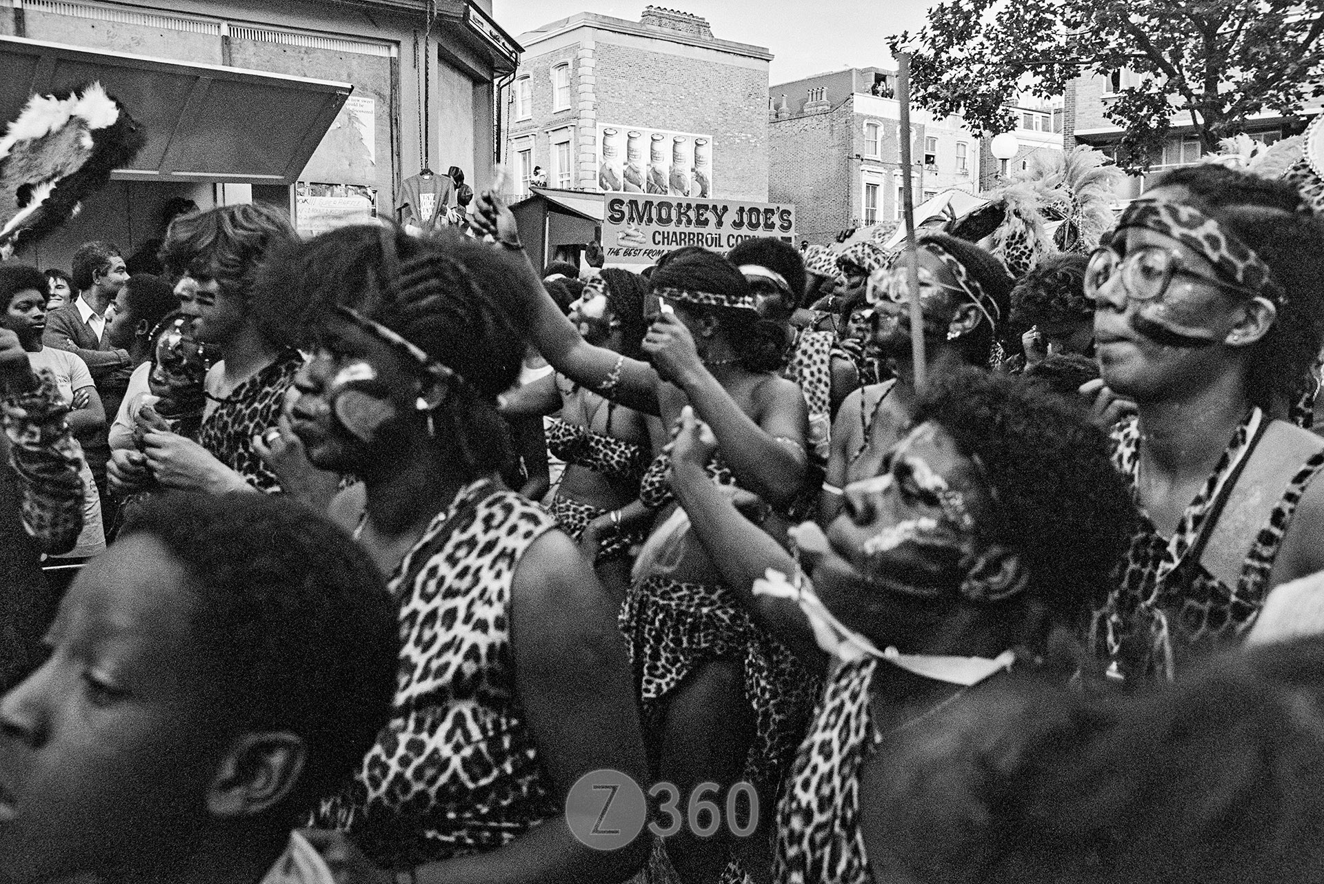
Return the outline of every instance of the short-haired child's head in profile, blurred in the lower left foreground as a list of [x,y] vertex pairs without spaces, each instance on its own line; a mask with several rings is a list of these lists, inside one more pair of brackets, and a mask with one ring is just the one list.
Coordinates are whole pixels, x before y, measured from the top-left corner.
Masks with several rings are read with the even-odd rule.
[[396,634],[376,567],[307,509],[152,498],[0,702],[0,876],[168,873],[228,839],[274,861],[385,724]]

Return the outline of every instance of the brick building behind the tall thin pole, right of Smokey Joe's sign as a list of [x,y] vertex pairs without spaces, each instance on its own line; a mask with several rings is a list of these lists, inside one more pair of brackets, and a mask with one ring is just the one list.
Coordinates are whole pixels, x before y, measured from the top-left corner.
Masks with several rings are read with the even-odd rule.
[[[838,232],[900,217],[900,103],[896,72],[853,68],[768,90],[768,199],[796,204],[797,236],[831,243]],[[911,113],[916,203],[944,190],[976,192],[980,139],[959,117]]]

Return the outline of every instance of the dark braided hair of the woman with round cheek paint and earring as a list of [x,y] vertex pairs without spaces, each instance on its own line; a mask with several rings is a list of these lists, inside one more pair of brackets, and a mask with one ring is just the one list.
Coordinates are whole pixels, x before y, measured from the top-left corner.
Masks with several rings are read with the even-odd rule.
[[524,335],[496,296],[491,249],[453,231],[346,227],[286,248],[258,274],[254,315],[274,341],[307,349],[336,306],[380,322],[459,378],[433,411],[478,473],[512,456],[496,396],[519,376]]

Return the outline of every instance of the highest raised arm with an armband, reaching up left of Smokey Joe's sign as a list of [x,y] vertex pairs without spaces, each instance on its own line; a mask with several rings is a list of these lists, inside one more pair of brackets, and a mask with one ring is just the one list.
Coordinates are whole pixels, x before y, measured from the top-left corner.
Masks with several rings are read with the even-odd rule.
[[530,341],[543,358],[571,380],[597,394],[637,411],[658,414],[658,375],[653,367],[584,341],[543,288],[519,244],[519,229],[510,208],[490,191],[474,203],[474,229],[481,235],[490,233],[504,247],[504,253],[495,258],[502,265],[503,290],[511,298],[511,306],[524,318]]

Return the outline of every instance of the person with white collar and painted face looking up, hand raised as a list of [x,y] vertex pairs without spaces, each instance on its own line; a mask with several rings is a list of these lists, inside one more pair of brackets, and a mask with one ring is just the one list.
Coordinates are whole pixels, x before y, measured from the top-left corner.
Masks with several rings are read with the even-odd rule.
[[[890,786],[916,754],[960,765],[964,746],[935,738],[907,759],[900,738],[1010,681],[1064,687],[1075,660],[1039,661],[1107,588],[1133,517],[1103,433],[1054,394],[959,368],[914,415],[886,473],[846,489],[826,535],[793,531],[798,561],[715,492],[706,427],[691,416],[674,443],[673,488],[704,546],[724,553],[728,591],[830,673],[777,811],[782,884],[945,880],[912,876],[978,818],[908,842],[879,832],[941,812],[952,795],[908,806],[915,793]],[[993,740],[994,724],[974,730]]]

